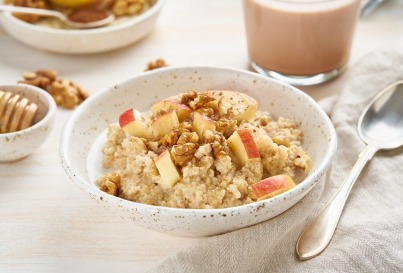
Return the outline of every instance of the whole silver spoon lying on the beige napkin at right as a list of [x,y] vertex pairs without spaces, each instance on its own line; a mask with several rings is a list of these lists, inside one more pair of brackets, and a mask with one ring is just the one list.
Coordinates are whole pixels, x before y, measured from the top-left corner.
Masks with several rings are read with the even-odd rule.
[[403,81],[389,85],[374,97],[358,121],[358,135],[367,146],[335,196],[300,235],[296,245],[300,260],[316,257],[329,244],[351,188],[374,154],[403,145]]

